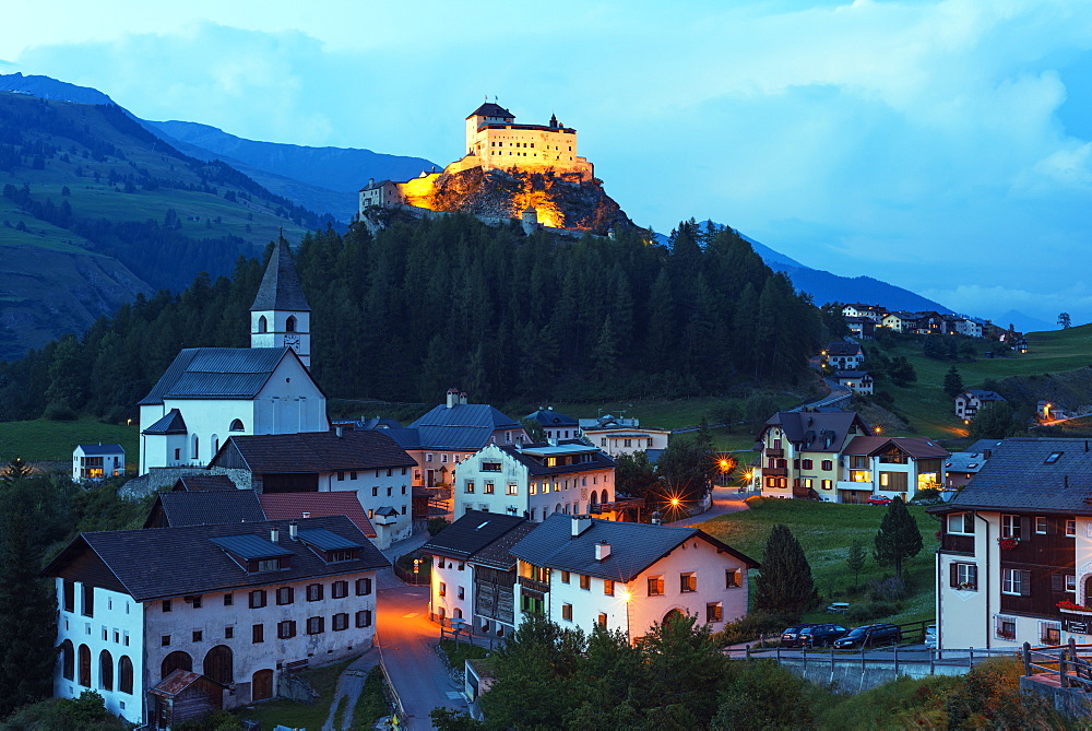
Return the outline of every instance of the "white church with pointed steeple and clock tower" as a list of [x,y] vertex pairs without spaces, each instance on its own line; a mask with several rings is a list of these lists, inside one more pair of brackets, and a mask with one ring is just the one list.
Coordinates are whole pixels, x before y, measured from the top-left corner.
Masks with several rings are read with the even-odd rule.
[[250,347],[182,350],[140,401],[140,474],[205,467],[232,436],[328,432],[310,315],[282,237],[250,307]]

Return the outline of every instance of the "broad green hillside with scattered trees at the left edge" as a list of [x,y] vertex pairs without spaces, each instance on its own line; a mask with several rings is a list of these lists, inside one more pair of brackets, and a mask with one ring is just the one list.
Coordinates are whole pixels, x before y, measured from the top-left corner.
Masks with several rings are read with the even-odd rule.
[[82,333],[138,293],[229,273],[316,214],[188,157],[119,107],[0,93],[0,358]]

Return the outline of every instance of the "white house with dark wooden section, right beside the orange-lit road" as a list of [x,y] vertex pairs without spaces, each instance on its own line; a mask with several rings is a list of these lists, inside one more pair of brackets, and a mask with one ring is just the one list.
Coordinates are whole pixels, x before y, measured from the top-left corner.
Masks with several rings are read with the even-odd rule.
[[472,510],[422,546],[431,557],[429,618],[465,622],[476,634],[515,629],[515,558],[509,550],[535,528],[526,518]]

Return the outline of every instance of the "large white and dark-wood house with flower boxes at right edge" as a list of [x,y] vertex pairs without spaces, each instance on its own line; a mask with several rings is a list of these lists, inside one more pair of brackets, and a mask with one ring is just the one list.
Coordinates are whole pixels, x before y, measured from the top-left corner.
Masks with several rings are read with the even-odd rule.
[[938,647],[1092,641],[1092,443],[1005,439],[929,512]]

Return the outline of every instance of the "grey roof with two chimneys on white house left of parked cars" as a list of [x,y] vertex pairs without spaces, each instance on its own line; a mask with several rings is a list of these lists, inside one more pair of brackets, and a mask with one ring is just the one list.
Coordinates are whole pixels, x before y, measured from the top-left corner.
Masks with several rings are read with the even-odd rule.
[[[536,566],[631,581],[682,543],[697,539],[736,556],[751,568],[758,567],[753,558],[697,528],[590,520],[591,527],[573,538],[573,517],[554,514],[512,546],[511,553]],[[595,544],[604,541],[610,544],[610,555],[596,561]]]

